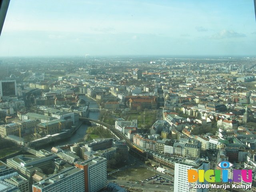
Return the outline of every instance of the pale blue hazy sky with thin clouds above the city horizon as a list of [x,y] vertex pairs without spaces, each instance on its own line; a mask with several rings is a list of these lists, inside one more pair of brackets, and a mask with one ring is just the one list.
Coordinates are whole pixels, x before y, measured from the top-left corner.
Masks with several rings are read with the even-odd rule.
[[256,55],[253,0],[10,0],[0,57]]

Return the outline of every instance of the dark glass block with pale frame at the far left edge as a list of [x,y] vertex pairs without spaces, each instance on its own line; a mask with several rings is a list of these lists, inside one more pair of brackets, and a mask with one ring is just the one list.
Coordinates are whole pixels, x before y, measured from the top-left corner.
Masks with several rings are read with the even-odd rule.
[[9,97],[17,95],[16,80],[0,81],[0,97]]

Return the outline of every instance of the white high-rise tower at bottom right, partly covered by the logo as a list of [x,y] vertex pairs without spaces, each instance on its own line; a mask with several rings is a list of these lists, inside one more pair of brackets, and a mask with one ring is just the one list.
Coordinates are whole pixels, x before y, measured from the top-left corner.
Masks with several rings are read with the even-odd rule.
[[[188,182],[188,170],[204,170],[205,172],[210,169],[210,162],[202,161],[195,157],[185,157],[180,162],[175,163],[174,168],[174,191],[175,192],[208,192],[209,189],[195,189],[195,184],[209,184],[206,180],[199,182],[198,180],[193,183]],[[188,185],[192,184],[193,188]]]

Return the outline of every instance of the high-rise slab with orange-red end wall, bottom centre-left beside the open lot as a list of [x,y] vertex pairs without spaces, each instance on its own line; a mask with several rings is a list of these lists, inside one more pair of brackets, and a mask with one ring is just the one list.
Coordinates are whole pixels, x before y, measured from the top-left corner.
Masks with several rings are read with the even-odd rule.
[[76,163],[76,167],[84,170],[84,191],[97,192],[107,186],[107,160],[94,157]]

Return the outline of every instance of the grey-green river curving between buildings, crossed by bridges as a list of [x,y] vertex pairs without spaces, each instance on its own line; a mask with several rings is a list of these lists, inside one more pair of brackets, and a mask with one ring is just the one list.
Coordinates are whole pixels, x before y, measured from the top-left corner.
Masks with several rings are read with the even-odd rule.
[[[79,96],[79,98],[83,98],[86,102],[90,102],[89,108],[99,108],[98,104],[96,101],[94,101],[93,99],[87,97],[87,96]],[[99,116],[100,112],[90,112],[89,113],[89,118],[90,119],[94,119],[94,120],[98,120],[98,116]],[[82,124],[80,126],[80,128],[78,128],[78,130],[76,130],[76,132],[74,133],[74,135],[67,139],[67,140],[63,140],[63,141],[58,141],[56,142],[55,146],[58,145],[66,145],[66,144],[72,144],[74,142],[78,142],[79,139],[83,138],[84,135],[86,135],[86,131],[87,131],[88,125]],[[52,146],[43,146],[43,149],[50,151]]]

